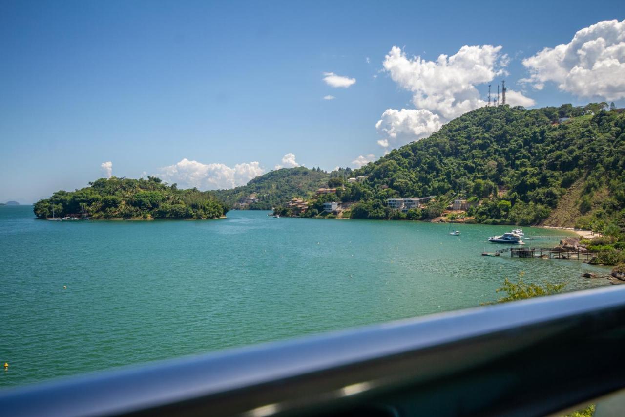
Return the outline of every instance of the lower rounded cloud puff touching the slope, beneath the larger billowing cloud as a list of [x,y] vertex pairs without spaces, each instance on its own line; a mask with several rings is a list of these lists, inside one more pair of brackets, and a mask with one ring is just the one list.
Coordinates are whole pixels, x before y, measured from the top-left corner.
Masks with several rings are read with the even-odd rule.
[[441,118],[429,110],[387,109],[377,121],[376,129],[386,136],[378,140],[381,147],[401,146],[422,138],[426,138],[442,126]]

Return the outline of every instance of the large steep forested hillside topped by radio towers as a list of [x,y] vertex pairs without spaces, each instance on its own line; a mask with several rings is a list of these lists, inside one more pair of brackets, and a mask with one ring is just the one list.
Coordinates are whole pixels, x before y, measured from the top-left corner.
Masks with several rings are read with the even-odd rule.
[[479,108],[356,170],[366,182],[337,198],[359,201],[352,217],[369,219],[392,215],[386,198],[457,193],[481,202],[467,214],[482,223],[623,222],[624,130],[625,113],[604,103]]

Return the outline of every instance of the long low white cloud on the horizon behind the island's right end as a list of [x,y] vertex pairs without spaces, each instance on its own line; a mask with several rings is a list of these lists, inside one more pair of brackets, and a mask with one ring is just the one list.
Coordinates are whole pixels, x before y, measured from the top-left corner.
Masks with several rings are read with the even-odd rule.
[[234,188],[264,173],[258,162],[238,163],[231,168],[223,163],[204,164],[187,158],[160,171],[161,178],[166,182],[178,183],[181,188],[197,187],[203,190]]

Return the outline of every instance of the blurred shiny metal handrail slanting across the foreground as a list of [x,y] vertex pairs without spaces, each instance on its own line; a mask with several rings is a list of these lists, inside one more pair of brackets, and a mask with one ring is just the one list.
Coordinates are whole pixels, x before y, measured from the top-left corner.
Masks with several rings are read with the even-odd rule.
[[0,413],[542,415],[625,387],[623,317],[625,286],[570,292],[1,391]]

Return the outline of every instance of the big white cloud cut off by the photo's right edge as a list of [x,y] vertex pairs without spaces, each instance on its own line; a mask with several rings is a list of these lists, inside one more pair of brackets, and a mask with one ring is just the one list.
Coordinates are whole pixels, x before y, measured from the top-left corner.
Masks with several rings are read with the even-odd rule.
[[531,83],[552,81],[562,91],[606,100],[625,97],[625,19],[606,20],[577,31],[567,44],[544,48],[523,59]]

